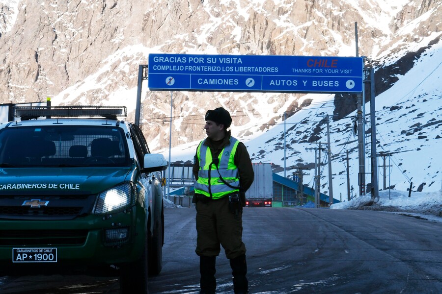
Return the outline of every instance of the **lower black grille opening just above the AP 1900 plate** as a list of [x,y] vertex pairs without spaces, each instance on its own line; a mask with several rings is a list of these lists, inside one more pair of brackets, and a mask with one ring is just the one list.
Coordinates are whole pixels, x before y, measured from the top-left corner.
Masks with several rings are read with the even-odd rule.
[[82,245],[87,230],[0,230],[1,245]]

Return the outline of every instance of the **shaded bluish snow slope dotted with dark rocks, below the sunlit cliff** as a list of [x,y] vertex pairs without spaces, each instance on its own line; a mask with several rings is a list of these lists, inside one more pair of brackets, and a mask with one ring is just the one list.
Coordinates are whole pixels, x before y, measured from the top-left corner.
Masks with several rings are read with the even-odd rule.
[[[441,125],[442,125],[442,46],[425,51],[415,61],[414,67],[401,76],[387,91],[376,97],[376,139],[378,153],[390,153],[386,157],[386,187],[408,191],[439,191],[442,183]],[[266,94],[270,95],[270,94]],[[311,97],[306,95],[305,97]],[[324,116],[333,116],[335,107],[332,95],[314,95],[313,102],[293,114],[285,122],[286,175],[291,177],[296,168],[308,166],[310,175],[304,183],[313,187],[314,156],[311,149],[317,142],[327,142],[327,124]],[[366,172],[370,164],[370,103],[366,104]],[[359,172],[358,138],[354,133],[356,111],[345,118],[330,122],[333,197],[347,199],[346,151],[350,158],[350,182],[358,193]],[[277,123],[269,130],[259,131],[259,119],[248,123],[256,130],[246,145],[254,162],[272,162],[276,172],[283,175],[284,123]],[[200,126],[202,131],[203,125]],[[243,126],[233,125],[232,133],[240,133]],[[312,139],[314,138],[314,139]],[[319,138],[318,140],[315,140]],[[192,160],[196,143],[182,145],[171,151],[172,162]],[[323,145],[324,147],[324,145]],[[168,150],[163,150],[168,154]],[[328,194],[328,170],[326,152],[322,158],[321,192]],[[384,162],[378,159],[379,188],[384,184]],[[370,176],[366,176],[366,183]],[[442,201],[442,198],[441,198]]]

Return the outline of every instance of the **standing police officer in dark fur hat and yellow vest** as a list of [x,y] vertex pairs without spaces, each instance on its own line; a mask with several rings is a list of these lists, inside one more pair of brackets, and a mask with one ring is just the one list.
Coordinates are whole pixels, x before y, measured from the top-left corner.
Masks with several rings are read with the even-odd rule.
[[216,291],[215,262],[220,244],[230,261],[234,293],[246,294],[242,211],[244,193],[253,182],[253,168],[246,146],[227,131],[232,123],[229,112],[222,107],[209,110],[205,120],[207,138],[199,143],[193,163],[200,294]]

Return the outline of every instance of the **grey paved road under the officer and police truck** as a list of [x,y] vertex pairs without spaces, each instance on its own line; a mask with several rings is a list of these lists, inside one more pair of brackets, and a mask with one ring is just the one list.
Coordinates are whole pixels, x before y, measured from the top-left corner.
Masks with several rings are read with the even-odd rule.
[[[151,294],[198,293],[193,208],[166,209],[164,267]],[[251,294],[442,293],[442,224],[376,212],[248,208]],[[232,293],[223,252],[218,293]],[[0,293],[118,293],[116,277],[0,277]]]

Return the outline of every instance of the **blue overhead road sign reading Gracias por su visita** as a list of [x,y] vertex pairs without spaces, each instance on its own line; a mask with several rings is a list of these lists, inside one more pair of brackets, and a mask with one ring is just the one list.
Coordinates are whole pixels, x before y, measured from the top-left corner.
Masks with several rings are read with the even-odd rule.
[[362,57],[149,54],[152,91],[362,92]]

